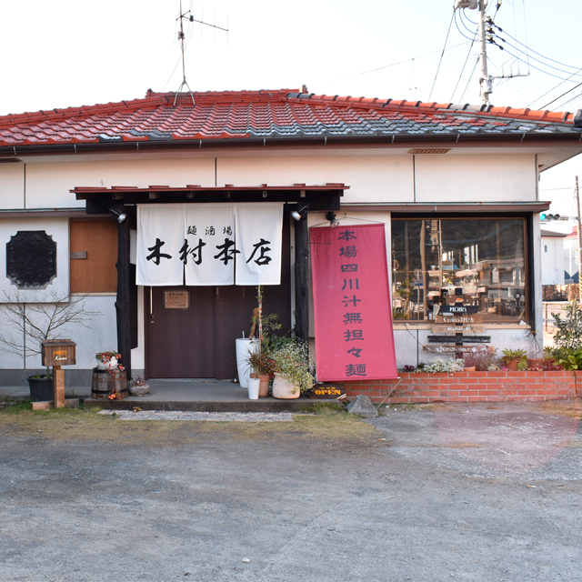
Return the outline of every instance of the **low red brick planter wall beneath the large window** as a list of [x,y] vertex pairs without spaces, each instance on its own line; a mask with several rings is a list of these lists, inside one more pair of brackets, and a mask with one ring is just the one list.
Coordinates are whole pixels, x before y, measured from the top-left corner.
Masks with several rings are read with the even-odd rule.
[[[402,378],[386,403],[499,402],[554,400],[582,396],[582,372],[400,372]],[[347,396],[370,396],[381,402],[397,380],[346,382]]]

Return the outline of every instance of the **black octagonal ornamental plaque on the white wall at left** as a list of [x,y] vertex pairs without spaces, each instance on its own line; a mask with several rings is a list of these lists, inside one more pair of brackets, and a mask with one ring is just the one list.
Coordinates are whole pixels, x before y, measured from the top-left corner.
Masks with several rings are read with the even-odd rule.
[[6,243],[6,276],[20,289],[42,289],[56,276],[56,243],[44,230],[19,230]]

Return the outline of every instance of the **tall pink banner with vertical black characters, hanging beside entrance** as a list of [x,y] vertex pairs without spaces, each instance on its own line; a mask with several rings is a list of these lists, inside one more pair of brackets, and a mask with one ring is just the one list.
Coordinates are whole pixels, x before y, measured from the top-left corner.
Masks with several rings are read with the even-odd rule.
[[384,225],[309,229],[317,380],[396,378]]

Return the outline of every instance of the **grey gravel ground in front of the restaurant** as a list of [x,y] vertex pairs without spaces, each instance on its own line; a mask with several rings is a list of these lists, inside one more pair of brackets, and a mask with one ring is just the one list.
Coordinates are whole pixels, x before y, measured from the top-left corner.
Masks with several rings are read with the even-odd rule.
[[578,418],[392,407],[360,436],[192,421],[160,444],[156,421],[131,444],[0,425],[0,580],[582,580]]

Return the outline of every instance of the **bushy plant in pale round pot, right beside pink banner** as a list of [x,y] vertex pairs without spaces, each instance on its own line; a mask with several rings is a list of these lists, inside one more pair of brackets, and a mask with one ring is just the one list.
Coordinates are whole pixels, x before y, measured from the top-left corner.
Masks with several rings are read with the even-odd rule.
[[288,338],[283,346],[273,353],[275,378],[273,396],[276,398],[298,398],[314,385],[309,360],[309,346],[297,338]]

